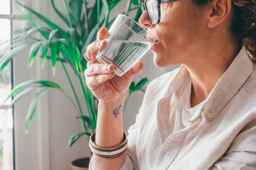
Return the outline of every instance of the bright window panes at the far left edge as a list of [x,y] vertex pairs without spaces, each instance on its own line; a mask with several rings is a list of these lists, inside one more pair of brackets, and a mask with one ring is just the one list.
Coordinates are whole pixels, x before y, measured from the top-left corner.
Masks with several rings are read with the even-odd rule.
[[[0,14],[9,15],[11,13],[10,0],[0,1]],[[5,48],[2,42],[10,40],[11,22],[0,18],[0,51]],[[4,102],[11,92],[11,64],[9,64],[0,74],[0,170],[13,170],[13,112],[7,105],[11,100]]]

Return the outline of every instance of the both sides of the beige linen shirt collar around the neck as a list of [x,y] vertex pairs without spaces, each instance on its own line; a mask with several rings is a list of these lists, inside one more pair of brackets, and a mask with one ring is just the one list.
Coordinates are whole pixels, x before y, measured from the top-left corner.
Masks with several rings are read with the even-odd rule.
[[[229,100],[234,97],[249,75],[251,75],[253,67],[254,64],[248,56],[245,46],[242,46],[240,52],[214,86],[201,108],[207,121],[212,121]],[[164,98],[175,93],[189,78],[189,71],[185,66],[181,65],[175,77],[170,79]]]

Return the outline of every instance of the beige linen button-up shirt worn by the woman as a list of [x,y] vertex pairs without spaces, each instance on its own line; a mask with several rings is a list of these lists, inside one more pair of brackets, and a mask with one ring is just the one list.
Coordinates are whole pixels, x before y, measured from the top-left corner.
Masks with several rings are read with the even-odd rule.
[[245,48],[198,109],[198,117],[173,133],[177,101],[189,79],[181,66],[148,85],[128,130],[121,170],[256,170],[256,64]]

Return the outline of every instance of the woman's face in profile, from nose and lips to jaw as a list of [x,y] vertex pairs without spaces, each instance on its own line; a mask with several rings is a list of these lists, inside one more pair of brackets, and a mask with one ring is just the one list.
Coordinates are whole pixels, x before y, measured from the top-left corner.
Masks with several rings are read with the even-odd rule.
[[207,18],[202,11],[195,11],[189,0],[166,2],[160,5],[161,19],[153,25],[146,11],[140,24],[146,26],[156,44],[151,48],[154,63],[160,68],[193,62],[203,50],[207,39]]

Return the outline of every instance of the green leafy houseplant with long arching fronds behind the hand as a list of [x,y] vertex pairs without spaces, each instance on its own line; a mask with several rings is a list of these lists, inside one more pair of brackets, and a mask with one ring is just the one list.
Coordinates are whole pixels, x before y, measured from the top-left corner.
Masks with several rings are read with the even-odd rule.
[[[61,28],[45,16],[16,1],[20,7],[25,8],[32,14],[26,15],[23,13],[32,27],[12,33],[11,45],[0,52],[0,72],[19,51],[27,46],[31,46],[28,60],[29,67],[33,65],[36,57],[40,57],[42,69],[45,66],[46,60],[50,60],[52,63],[52,73],[55,75],[56,63],[61,63],[67,82],[70,84],[70,88],[74,94],[75,101],[72,101],[57,83],[48,80],[31,79],[13,88],[11,94],[7,97],[7,99],[13,97],[12,103],[8,108],[11,108],[25,94],[34,89],[39,89],[39,92],[31,100],[27,111],[25,131],[28,133],[40,98],[52,89],[61,91],[74,107],[75,113],[84,129],[83,132],[75,133],[70,137],[68,147],[71,147],[83,135],[87,135],[89,139],[91,133],[96,129],[98,101],[85,84],[83,72],[86,69],[87,62],[83,58],[83,53],[85,52],[86,46],[96,40],[99,28],[102,26],[108,28],[112,24],[115,18],[110,19],[109,14],[121,0],[93,0],[93,5],[90,7],[88,6],[89,0],[70,0],[68,3],[66,0],[63,0],[64,14],[57,9],[54,0],[50,0],[50,2],[56,14],[69,28],[67,30]],[[92,4],[92,0],[90,0],[90,4]],[[132,18],[138,20],[141,11],[137,0],[128,0],[124,14],[129,15],[130,11],[134,15]],[[35,20],[32,19],[32,16],[40,22],[47,24],[47,27],[38,26]],[[34,33],[39,33],[42,38],[35,38]],[[74,89],[74,82],[71,81],[66,66],[69,66],[77,77],[81,86],[79,93],[83,94],[83,101],[79,101],[77,97],[78,92]],[[143,88],[147,82],[147,78],[141,79],[137,84],[132,82],[126,104],[132,93],[135,91],[144,91]],[[87,110],[81,109],[81,105],[84,104]]]

